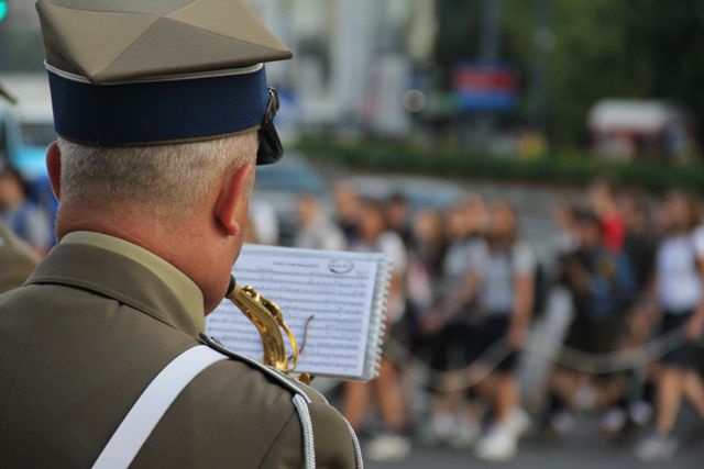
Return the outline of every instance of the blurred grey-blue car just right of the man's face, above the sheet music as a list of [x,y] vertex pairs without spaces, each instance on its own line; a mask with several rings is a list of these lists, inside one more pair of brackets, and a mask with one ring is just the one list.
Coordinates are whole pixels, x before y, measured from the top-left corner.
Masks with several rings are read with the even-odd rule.
[[[297,200],[305,193],[316,196],[327,210],[330,189],[326,180],[304,156],[287,153],[277,164],[256,168],[252,219],[255,223],[271,223],[266,221],[266,216],[257,217],[255,212],[267,211],[267,206],[273,208],[276,214],[275,222],[278,224],[276,241],[284,246],[290,246],[298,232]],[[255,228],[257,232],[271,232],[268,227]]]

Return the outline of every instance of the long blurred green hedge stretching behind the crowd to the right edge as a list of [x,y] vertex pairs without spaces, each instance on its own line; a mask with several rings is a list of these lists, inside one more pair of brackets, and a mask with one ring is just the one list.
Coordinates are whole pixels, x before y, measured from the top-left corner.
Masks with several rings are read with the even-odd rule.
[[486,178],[583,186],[596,178],[654,191],[704,191],[704,165],[636,164],[598,160],[580,152],[539,159],[491,158],[457,149],[422,148],[402,142],[302,139],[298,148],[314,159],[358,169],[408,172],[448,178]]

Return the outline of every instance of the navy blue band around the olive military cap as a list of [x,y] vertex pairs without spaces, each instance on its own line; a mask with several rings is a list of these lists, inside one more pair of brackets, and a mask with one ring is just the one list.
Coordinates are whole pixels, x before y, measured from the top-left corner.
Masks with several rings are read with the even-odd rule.
[[262,124],[264,67],[246,75],[91,85],[48,72],[56,132],[101,146],[207,139]]

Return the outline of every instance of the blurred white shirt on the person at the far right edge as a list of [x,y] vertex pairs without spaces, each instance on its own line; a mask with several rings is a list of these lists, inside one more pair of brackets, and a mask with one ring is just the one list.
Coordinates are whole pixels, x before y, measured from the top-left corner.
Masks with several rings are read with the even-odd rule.
[[693,233],[668,236],[658,248],[657,276],[660,305],[684,314],[702,300],[702,278],[696,265],[704,257],[704,226]]

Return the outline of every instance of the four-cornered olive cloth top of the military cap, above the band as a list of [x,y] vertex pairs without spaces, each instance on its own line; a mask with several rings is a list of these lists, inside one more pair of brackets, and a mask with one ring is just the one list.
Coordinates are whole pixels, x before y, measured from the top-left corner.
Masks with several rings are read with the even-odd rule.
[[246,0],[38,0],[48,67],[94,85],[288,59]]

